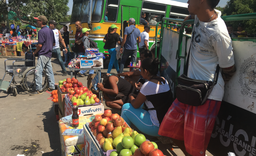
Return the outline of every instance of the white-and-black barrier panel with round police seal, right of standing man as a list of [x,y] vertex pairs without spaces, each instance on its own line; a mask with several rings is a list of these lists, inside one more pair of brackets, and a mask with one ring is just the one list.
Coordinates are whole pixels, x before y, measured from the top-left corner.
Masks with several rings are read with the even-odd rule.
[[[208,149],[216,156],[256,153],[256,39],[233,39],[236,73],[224,97]],[[216,150],[218,149],[218,150]]]

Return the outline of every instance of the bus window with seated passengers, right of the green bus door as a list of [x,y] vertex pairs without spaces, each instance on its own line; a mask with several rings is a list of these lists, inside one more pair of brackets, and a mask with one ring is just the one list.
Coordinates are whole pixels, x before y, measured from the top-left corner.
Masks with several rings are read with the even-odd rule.
[[145,20],[148,24],[156,25],[163,17],[165,17],[166,5],[143,1],[141,10],[146,13]]

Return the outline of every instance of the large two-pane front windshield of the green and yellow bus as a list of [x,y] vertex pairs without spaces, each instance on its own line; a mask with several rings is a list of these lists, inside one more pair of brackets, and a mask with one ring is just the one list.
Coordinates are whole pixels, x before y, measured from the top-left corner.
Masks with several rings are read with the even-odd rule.
[[[89,0],[74,0],[70,23],[88,22]],[[103,0],[92,0],[92,22],[100,22],[102,16]]]

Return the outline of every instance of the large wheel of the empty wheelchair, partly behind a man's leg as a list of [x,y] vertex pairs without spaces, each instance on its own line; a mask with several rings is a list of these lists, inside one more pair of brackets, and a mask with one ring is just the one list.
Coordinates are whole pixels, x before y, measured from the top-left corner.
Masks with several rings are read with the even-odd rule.
[[[46,75],[46,73],[43,71],[43,74]],[[42,77],[42,90],[44,90],[47,87],[48,79],[46,77]],[[35,87],[35,67],[28,68],[23,75],[22,83],[25,87],[25,89],[29,92],[33,92],[36,90]]]

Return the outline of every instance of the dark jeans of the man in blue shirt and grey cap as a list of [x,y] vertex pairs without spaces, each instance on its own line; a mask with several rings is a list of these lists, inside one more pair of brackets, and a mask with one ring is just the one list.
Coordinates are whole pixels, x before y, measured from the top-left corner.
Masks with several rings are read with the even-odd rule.
[[[130,50],[130,49],[124,49],[122,58],[121,58],[121,63],[120,63],[120,67],[119,67],[119,72],[122,73],[124,70],[124,64],[126,62],[126,60],[129,58],[129,56],[131,55],[131,61],[136,62],[137,59],[137,49],[135,50]],[[132,68],[132,70],[134,70],[135,68]]]

